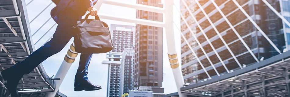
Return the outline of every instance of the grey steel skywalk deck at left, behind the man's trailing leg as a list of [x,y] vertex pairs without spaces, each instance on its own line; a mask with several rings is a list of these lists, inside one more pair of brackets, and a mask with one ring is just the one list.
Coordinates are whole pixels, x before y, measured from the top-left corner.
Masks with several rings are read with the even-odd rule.
[[[0,71],[2,71],[23,61],[34,51],[34,45],[31,41],[24,0],[1,0],[0,18]],[[9,91],[4,86],[5,82],[2,77],[0,79],[0,96],[8,96]],[[21,96],[41,97],[46,92],[53,91],[53,80],[49,79],[42,65],[30,74],[24,75],[17,86],[17,92]]]

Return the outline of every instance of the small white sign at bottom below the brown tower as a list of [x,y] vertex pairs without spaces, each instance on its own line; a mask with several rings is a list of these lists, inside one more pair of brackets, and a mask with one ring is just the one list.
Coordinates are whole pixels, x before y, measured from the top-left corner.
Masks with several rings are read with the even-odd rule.
[[153,91],[129,91],[129,97],[153,97]]

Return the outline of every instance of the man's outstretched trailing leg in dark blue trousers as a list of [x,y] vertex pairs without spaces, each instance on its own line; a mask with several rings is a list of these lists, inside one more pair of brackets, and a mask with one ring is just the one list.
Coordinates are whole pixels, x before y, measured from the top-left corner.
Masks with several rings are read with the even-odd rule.
[[[69,30],[68,30],[69,31]],[[17,63],[9,69],[2,71],[3,78],[7,81],[7,88],[12,96],[17,96],[16,87],[20,78],[24,74],[29,74],[35,67],[43,62],[48,57],[60,52],[61,49],[71,39],[71,34],[64,34],[66,28],[57,26],[53,38],[45,43],[44,46],[37,49],[24,61]]]

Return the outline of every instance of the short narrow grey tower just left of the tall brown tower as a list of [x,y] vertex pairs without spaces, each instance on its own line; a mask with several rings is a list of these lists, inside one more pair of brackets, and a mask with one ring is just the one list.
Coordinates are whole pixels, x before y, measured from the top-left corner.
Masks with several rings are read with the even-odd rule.
[[134,49],[124,49],[120,66],[120,94],[134,90]]

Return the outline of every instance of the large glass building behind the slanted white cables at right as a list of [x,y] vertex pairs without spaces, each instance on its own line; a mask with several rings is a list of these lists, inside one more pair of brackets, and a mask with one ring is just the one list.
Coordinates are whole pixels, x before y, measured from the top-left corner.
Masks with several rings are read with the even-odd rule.
[[[256,63],[257,61],[254,57],[258,60],[263,60],[279,54],[232,0],[215,1],[226,18],[220,14],[210,0],[199,0],[202,8],[199,8],[198,3],[194,2],[194,0],[185,1],[187,6],[189,6],[190,12],[192,12],[194,18],[198,21],[198,23],[194,21],[189,11],[187,11],[187,8],[183,5],[183,2],[180,2],[181,14],[185,18],[185,21],[190,25],[190,29],[192,29],[193,33],[190,32],[183,19],[181,19],[181,31],[190,43],[193,51],[198,56],[198,58],[194,57],[194,54],[181,37],[182,73],[186,83],[198,83],[208,80],[208,76],[202,69],[201,65],[205,67],[210,76],[217,75],[210,61],[216,68],[217,72],[222,75],[226,72],[226,68],[232,72],[240,67],[246,67],[252,63]],[[267,1],[277,11],[281,11],[282,15],[284,15],[288,21],[290,20],[290,15],[288,13],[289,1]],[[237,0],[237,2],[266,33],[270,40],[274,42],[277,48],[280,51],[283,51],[286,47],[285,40],[287,40],[284,37],[288,38],[288,40],[290,37],[289,27],[283,25],[281,19],[261,0]],[[281,5],[283,5],[283,8],[280,8]],[[208,15],[209,19],[206,18],[201,9],[204,9],[204,12]],[[241,36],[242,40],[238,38],[238,35],[234,33],[234,30],[232,30],[225,19],[230,21],[238,35]],[[209,21],[214,24],[217,31],[214,30]],[[205,35],[202,34],[201,29],[197,24],[200,24]],[[226,48],[221,37],[219,37],[217,33],[222,36],[226,45],[229,46],[229,49]],[[287,33],[287,35],[284,33]],[[195,40],[193,36],[196,36],[198,41]],[[214,52],[214,49],[209,45],[205,36],[209,38],[213,48],[218,54]],[[246,45],[243,45],[242,41],[245,41]],[[201,47],[205,50],[205,54],[207,54],[209,58],[206,58],[201,47],[198,45],[198,42],[200,42]],[[246,46],[248,46],[250,50],[246,49]],[[254,55],[251,55],[249,51],[253,52]],[[230,52],[233,52],[234,55],[231,55]],[[218,59],[218,56],[220,56],[222,61]],[[237,58],[237,60],[235,60],[234,57]],[[201,64],[197,59],[201,60]],[[225,66],[223,66],[222,62],[224,62]],[[238,63],[240,63],[241,66],[239,66]]]

